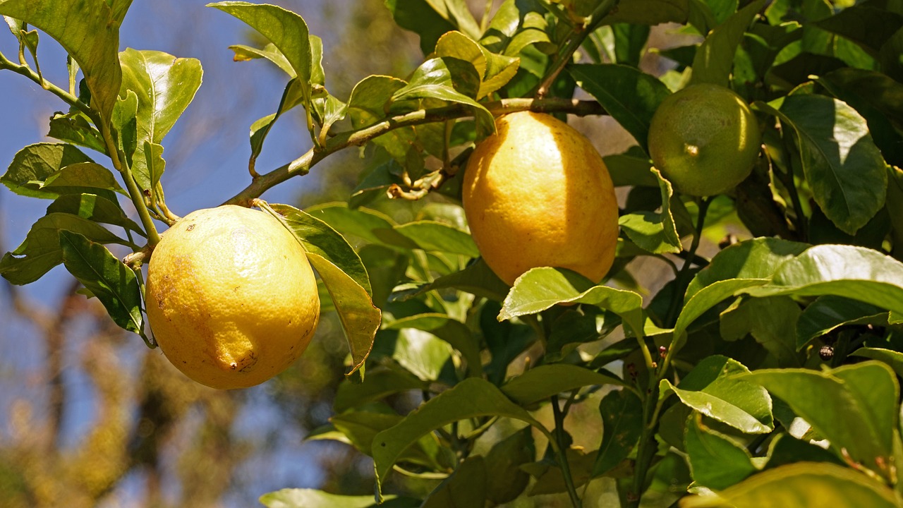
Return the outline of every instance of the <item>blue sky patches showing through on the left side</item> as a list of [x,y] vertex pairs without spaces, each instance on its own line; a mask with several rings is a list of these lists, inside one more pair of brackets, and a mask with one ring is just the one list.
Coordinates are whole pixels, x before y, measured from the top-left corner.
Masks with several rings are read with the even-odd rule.
[[[270,2],[302,14],[321,35],[329,52],[330,32],[318,33],[315,27],[341,23],[338,14],[322,14],[324,7],[315,0]],[[248,183],[247,157],[248,127],[257,119],[275,111],[288,78],[265,61],[234,62],[228,45],[247,43],[247,26],[219,10],[205,7],[206,0],[155,0],[135,2],[120,30],[120,50],[132,47],[139,50],[168,52],[177,57],[197,58],[203,66],[203,84],[195,99],[172,131],[163,140],[166,173],[163,188],[172,212],[185,215],[200,208],[218,205],[239,192]],[[341,3],[340,3],[341,4]],[[333,11],[339,9],[334,8]],[[328,7],[327,7],[328,8]],[[329,20],[324,15],[331,15]],[[17,43],[0,25],[0,52],[15,60]],[[65,52],[46,34],[38,47],[39,61],[45,78],[65,88]],[[328,71],[328,59],[324,61]],[[0,173],[13,160],[15,153],[33,143],[53,141],[46,136],[48,118],[54,111],[66,110],[68,105],[30,80],[13,72],[0,71]],[[257,159],[261,173],[284,165],[310,148],[310,138],[293,118],[284,118],[267,139],[262,155]],[[111,167],[103,155],[86,153],[96,162]],[[293,202],[305,185],[311,185],[314,174],[295,178],[276,186],[262,196],[270,202]],[[32,223],[40,218],[49,201],[24,198],[0,186],[0,248],[14,249],[24,240]],[[123,202],[124,206],[129,205]],[[128,210],[128,209],[126,209]],[[134,216],[133,216],[134,217]],[[158,228],[165,226],[158,223]],[[41,280],[22,287],[22,294],[32,304],[52,308],[65,292],[70,277],[64,268],[51,270]],[[42,361],[41,341],[28,340],[36,333],[22,321],[9,315],[8,296],[0,290],[0,383],[10,387],[10,368],[28,370],[29,365]],[[144,344],[135,337],[135,352],[145,353]],[[77,401],[67,414],[64,428],[70,438],[90,425],[93,395],[84,379],[70,379],[70,400]],[[0,428],[8,417],[12,400],[27,396],[27,383],[0,393]],[[254,421],[245,427],[266,426],[265,409],[256,410]],[[0,436],[3,431],[0,430]],[[294,437],[300,441],[300,437]],[[293,448],[284,449],[270,466],[277,465],[270,477],[275,485],[312,486],[316,477],[303,471],[293,460]]]

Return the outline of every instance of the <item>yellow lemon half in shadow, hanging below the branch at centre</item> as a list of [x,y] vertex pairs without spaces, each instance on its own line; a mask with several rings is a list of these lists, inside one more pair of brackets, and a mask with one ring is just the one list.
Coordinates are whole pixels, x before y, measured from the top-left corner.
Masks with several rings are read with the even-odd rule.
[[464,171],[470,233],[508,284],[535,267],[605,276],[618,241],[618,202],[590,141],[561,120],[523,111],[498,118]]

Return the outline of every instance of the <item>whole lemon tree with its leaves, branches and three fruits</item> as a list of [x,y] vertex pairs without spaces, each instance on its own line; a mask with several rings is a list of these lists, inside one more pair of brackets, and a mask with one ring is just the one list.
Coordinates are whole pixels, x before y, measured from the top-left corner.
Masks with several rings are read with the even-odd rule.
[[[312,438],[371,457],[376,496],[268,506],[898,506],[898,6],[476,4],[387,1],[423,58],[347,94],[328,27],[210,4],[261,43],[236,65],[285,84],[247,187],[173,211],[163,146],[201,62],[120,48],[128,0],[0,0],[0,79],[66,109],[0,176],[48,202],[0,275],[63,265],[166,375],[215,388],[303,380],[307,344],[341,334]],[[675,24],[685,45],[650,47]],[[306,152],[261,167],[289,116]],[[260,200],[352,147],[347,200]]]

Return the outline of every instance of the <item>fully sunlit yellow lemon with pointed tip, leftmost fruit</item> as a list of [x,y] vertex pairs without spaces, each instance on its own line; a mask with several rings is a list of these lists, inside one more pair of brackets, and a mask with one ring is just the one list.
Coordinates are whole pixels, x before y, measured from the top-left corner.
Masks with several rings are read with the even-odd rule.
[[219,389],[264,382],[301,356],[320,318],[304,249],[265,212],[191,212],[147,268],[147,321],[166,358]]

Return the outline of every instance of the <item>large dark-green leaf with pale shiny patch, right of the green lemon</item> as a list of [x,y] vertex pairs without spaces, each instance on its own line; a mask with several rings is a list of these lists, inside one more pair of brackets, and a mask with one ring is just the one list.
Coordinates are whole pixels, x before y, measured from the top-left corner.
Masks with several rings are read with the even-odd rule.
[[792,127],[815,202],[838,228],[855,234],[884,205],[888,174],[864,118],[845,103],[795,94],[777,109],[757,103]]

